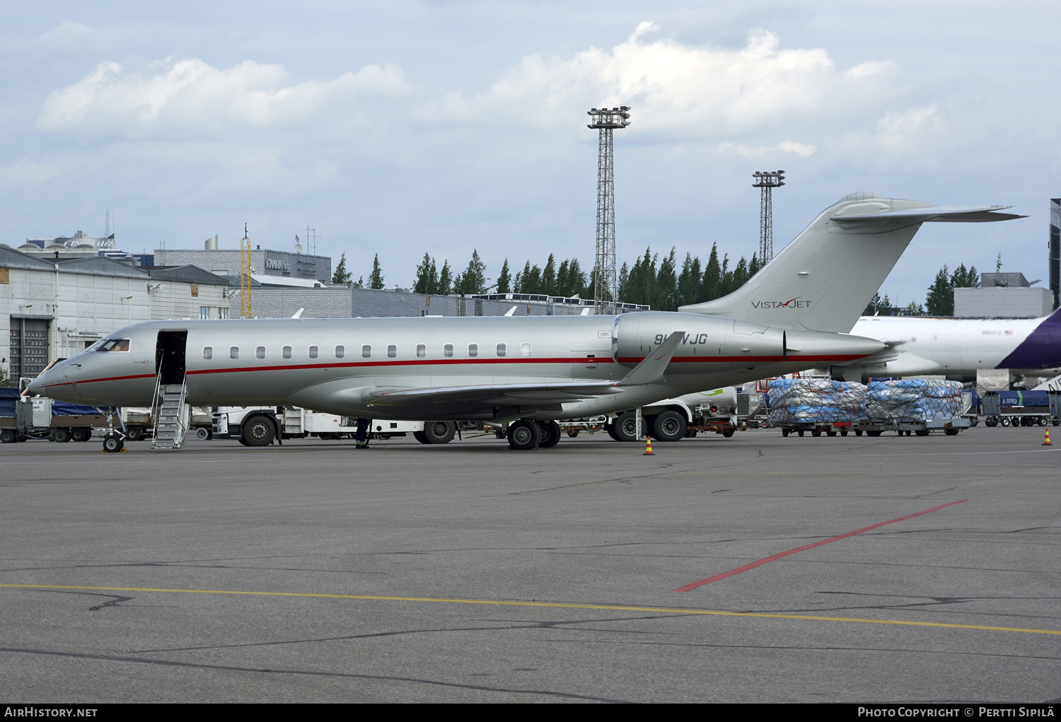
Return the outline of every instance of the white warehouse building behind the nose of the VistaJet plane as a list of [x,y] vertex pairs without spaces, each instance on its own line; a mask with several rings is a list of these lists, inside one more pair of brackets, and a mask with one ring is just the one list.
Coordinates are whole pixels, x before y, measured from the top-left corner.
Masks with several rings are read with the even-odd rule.
[[0,245],[0,369],[17,386],[129,323],[228,318],[229,295],[227,279],[195,266],[55,262]]

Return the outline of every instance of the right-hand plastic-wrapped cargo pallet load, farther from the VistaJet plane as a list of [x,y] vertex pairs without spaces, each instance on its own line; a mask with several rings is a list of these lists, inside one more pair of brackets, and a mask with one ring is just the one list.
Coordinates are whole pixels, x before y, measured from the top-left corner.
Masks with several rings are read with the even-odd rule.
[[866,420],[858,427],[869,436],[893,430],[900,436],[928,436],[941,430],[954,436],[969,428],[963,418],[961,384],[956,381],[903,378],[872,381],[866,387]]

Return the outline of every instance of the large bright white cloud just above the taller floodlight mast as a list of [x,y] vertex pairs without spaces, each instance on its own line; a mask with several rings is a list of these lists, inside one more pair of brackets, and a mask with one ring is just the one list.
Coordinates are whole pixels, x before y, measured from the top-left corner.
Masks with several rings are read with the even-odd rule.
[[868,91],[893,68],[869,61],[843,72],[825,50],[782,48],[764,30],[749,33],[743,48],[648,41],[655,30],[642,22],[610,50],[526,56],[483,93],[450,93],[441,112],[452,120],[489,120],[518,103],[526,109],[518,121],[555,125],[589,109],[582,106],[625,104],[633,107],[633,123],[649,133],[746,134],[834,112],[839,98],[871,96]]

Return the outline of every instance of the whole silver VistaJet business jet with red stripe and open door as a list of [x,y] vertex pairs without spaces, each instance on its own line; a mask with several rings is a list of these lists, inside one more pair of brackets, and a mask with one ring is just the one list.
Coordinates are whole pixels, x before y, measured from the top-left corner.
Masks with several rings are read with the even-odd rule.
[[[815,319],[835,322],[853,313],[853,324],[925,219],[1016,217],[995,213],[997,206],[850,200],[870,195],[827,209],[726,297],[740,296],[742,305],[772,300],[762,284],[777,279],[781,295],[799,297],[769,310],[779,320],[779,313],[789,314],[780,323],[705,315],[711,312],[702,307],[621,316],[146,321],[55,364],[30,390],[99,406],[152,405],[160,409],[160,428],[178,427],[189,404],[275,404],[361,418],[508,422],[512,448],[550,447],[560,438],[558,420],[614,415],[879,353],[881,341],[815,330]],[[893,206],[902,204],[920,215],[897,217]],[[847,217],[830,217],[853,205]],[[276,433],[264,428],[248,441],[269,443]],[[112,433],[104,448],[120,450],[122,441]]]

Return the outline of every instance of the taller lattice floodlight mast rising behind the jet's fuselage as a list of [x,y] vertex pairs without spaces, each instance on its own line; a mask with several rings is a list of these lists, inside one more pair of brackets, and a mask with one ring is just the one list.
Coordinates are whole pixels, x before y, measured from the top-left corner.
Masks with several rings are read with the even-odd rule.
[[597,151],[596,262],[593,265],[593,313],[614,314],[619,310],[619,276],[615,272],[615,168],[611,131],[630,124],[630,106],[592,108],[593,122],[586,127],[599,130]]

